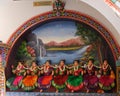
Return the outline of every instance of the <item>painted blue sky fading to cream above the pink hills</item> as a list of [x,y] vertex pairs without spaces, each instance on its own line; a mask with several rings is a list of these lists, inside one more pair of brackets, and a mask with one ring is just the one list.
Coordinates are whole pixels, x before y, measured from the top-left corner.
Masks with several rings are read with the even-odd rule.
[[44,43],[50,41],[62,42],[75,38],[75,22],[73,21],[53,21],[44,24],[33,31]]

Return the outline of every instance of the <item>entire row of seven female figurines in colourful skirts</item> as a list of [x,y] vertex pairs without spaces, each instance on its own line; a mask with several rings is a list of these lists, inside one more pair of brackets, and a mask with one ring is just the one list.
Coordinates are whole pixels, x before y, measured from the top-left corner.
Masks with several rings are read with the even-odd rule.
[[83,88],[86,92],[92,92],[98,88],[96,92],[103,93],[115,87],[115,75],[107,60],[101,66],[95,66],[93,59],[89,59],[86,66],[81,66],[79,60],[74,60],[71,65],[65,65],[65,60],[60,60],[58,65],[52,65],[47,60],[41,66],[33,61],[30,67],[18,62],[17,67],[12,65],[12,72],[14,77],[6,81],[10,90],[21,88],[31,91],[39,88],[43,92],[52,86],[56,92],[66,88],[70,92],[78,92]]

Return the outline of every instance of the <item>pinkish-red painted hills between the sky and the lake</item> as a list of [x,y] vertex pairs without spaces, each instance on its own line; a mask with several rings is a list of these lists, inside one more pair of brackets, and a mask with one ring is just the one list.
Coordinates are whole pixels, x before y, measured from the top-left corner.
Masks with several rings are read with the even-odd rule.
[[83,40],[81,40],[80,37],[77,37],[77,38],[72,38],[72,39],[69,39],[69,40],[66,40],[66,41],[63,41],[60,43],[57,43],[55,41],[50,41],[50,42],[46,43],[45,46],[48,46],[48,47],[54,47],[54,46],[68,47],[68,46],[81,46],[83,44],[84,44]]

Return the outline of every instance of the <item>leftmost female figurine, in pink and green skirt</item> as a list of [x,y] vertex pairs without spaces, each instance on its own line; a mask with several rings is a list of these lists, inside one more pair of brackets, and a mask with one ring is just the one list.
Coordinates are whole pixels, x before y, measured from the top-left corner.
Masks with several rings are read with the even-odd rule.
[[25,67],[21,62],[18,62],[17,67],[14,69],[12,65],[12,72],[15,74],[15,77],[12,77],[7,80],[6,85],[10,90],[17,90],[21,86],[21,81],[23,79],[23,75],[25,73]]

